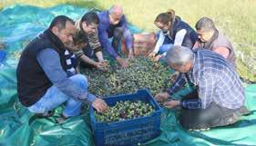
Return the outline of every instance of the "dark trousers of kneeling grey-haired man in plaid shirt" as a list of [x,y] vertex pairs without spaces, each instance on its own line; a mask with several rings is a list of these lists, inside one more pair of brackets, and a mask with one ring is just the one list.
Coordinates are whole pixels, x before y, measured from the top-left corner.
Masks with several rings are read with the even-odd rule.
[[[199,98],[198,92],[190,92],[182,100]],[[207,109],[182,108],[179,115],[179,123],[186,129],[205,129],[210,127],[225,126],[233,123],[234,114],[239,110],[227,109],[212,102]],[[240,116],[235,114],[235,116]]]

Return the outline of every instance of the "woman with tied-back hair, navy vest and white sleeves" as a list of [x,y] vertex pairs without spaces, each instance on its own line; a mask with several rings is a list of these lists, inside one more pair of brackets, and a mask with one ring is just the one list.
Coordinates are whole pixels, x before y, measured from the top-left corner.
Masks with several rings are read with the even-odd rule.
[[197,33],[183,22],[175,11],[170,9],[166,13],[161,13],[155,19],[154,24],[159,27],[159,37],[155,49],[148,54],[149,58],[159,61],[166,55],[172,45],[182,45],[192,48],[198,39]]

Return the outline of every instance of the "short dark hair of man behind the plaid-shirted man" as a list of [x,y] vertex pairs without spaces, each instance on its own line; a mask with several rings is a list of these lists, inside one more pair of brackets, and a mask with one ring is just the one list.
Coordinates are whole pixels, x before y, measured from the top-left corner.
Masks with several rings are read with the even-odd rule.
[[216,29],[213,21],[208,17],[202,17],[196,24],[197,30],[210,31]]

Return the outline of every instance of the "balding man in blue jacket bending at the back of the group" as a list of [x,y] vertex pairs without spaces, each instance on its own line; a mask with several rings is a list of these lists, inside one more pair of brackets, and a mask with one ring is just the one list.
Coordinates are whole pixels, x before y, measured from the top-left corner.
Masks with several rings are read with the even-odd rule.
[[[128,48],[128,58],[133,58],[132,36],[128,30],[128,22],[123,9],[119,5],[113,5],[107,11],[98,14],[100,24],[98,25],[98,37],[100,44],[107,49],[109,55],[114,57],[122,67],[128,66],[128,60],[121,58],[118,54],[118,46],[123,36]],[[113,37],[112,44],[108,38]]]

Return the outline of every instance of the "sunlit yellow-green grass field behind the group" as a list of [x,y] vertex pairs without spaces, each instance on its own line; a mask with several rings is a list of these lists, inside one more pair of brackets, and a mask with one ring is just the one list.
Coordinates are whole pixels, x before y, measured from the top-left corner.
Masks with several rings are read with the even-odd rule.
[[107,9],[124,6],[130,23],[147,32],[156,31],[153,21],[161,12],[172,8],[183,20],[194,26],[202,16],[211,17],[218,28],[232,40],[242,77],[256,81],[256,0],[2,0],[0,8],[13,4],[53,6],[71,4]]

